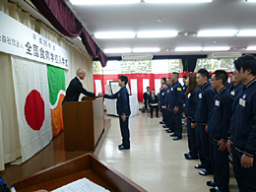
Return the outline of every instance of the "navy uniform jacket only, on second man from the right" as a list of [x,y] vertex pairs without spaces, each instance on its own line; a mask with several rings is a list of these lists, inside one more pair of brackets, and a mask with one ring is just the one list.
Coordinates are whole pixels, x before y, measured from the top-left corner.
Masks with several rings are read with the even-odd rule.
[[233,98],[224,88],[216,96],[211,117],[208,122],[208,135],[216,140],[227,142]]

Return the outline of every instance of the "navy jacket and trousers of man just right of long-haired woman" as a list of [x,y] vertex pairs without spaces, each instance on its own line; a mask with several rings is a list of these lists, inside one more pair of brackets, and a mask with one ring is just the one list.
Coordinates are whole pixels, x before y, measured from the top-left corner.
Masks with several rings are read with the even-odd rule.
[[201,162],[209,172],[213,171],[210,158],[209,135],[205,128],[210,120],[210,114],[214,106],[215,93],[209,82],[202,86],[198,93],[195,121],[197,122],[197,148]]

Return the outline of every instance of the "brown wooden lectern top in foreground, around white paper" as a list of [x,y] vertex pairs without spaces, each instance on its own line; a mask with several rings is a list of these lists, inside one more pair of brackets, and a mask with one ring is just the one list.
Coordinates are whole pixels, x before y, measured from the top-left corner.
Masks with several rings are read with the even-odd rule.
[[145,192],[146,190],[98,160],[92,154],[86,154],[73,160],[67,160],[13,184],[18,192],[45,189],[51,191],[80,178],[88,178],[97,185],[114,192]]

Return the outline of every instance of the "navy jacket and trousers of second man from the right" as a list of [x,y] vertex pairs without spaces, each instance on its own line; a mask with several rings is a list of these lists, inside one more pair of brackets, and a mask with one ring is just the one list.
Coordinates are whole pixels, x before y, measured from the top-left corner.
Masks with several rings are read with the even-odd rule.
[[210,136],[210,155],[215,175],[215,182],[221,191],[228,192],[229,160],[228,152],[219,150],[219,141],[227,142],[227,131],[231,118],[232,96],[223,88],[215,96],[215,105],[208,122],[207,133]]

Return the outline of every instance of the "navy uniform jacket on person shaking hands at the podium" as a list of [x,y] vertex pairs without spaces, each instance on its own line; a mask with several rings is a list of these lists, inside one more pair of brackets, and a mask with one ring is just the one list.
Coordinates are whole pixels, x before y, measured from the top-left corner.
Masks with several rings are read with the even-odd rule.
[[111,96],[104,94],[104,97],[117,98],[117,101],[116,101],[117,114],[130,116],[130,114],[131,114],[130,99],[129,99],[128,91],[125,86],[122,87],[116,94],[111,95]]

